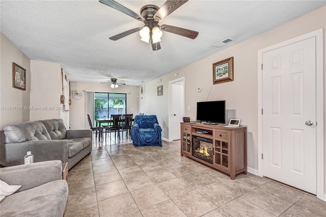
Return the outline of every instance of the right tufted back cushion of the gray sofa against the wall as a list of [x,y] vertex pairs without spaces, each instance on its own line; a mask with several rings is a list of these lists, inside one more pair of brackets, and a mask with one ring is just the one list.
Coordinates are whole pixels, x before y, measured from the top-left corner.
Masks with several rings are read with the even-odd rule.
[[41,120],[52,140],[63,140],[66,138],[66,126],[62,119]]

